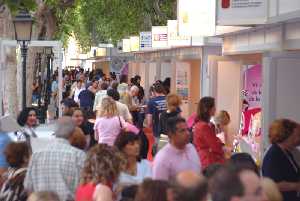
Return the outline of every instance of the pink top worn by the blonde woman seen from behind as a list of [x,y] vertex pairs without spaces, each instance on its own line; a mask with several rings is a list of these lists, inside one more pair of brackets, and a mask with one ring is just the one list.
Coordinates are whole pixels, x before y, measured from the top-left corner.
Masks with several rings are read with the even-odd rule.
[[123,117],[100,117],[96,119],[94,130],[98,133],[98,143],[114,145],[114,142],[121,132],[120,121],[122,126],[125,128],[125,120]]

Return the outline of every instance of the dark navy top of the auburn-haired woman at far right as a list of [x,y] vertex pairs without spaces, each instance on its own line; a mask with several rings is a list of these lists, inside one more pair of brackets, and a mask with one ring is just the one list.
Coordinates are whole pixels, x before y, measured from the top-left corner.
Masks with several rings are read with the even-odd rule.
[[[262,165],[262,174],[275,182],[299,182],[300,169],[289,151],[283,151],[273,144],[267,151]],[[284,201],[300,201],[296,191],[281,192]]]

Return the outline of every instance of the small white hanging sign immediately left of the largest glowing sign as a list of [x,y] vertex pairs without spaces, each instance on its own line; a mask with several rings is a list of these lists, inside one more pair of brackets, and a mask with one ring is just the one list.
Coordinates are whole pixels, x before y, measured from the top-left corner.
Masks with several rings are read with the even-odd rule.
[[152,47],[167,48],[168,47],[168,27],[153,26],[152,27]]

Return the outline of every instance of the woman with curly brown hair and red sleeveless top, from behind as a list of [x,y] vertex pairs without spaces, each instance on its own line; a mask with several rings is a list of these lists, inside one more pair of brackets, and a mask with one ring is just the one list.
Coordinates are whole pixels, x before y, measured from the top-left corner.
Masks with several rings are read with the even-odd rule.
[[113,201],[113,183],[118,179],[126,162],[114,147],[98,144],[92,147],[81,174],[76,201]]

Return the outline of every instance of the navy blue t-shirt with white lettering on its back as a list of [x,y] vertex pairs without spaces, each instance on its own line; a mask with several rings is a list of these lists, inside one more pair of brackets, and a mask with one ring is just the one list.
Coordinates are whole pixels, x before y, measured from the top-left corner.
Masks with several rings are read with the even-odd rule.
[[152,115],[153,133],[155,137],[160,136],[159,116],[167,109],[166,97],[158,96],[148,102],[148,114]]

